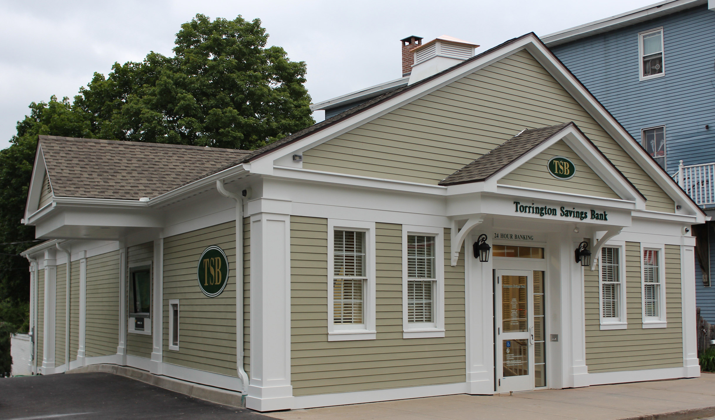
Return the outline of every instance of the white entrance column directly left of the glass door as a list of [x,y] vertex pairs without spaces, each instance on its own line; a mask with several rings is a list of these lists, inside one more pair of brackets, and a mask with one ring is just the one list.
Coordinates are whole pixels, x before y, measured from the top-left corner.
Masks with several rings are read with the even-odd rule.
[[478,226],[464,241],[467,393],[494,393],[494,289],[492,261],[474,258],[472,244],[479,234],[493,232]]

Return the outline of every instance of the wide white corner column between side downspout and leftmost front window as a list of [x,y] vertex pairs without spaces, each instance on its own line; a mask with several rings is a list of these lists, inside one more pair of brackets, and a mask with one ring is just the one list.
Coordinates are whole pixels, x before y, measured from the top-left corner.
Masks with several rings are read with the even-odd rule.
[[257,199],[251,214],[251,379],[246,406],[290,409],[290,201]]

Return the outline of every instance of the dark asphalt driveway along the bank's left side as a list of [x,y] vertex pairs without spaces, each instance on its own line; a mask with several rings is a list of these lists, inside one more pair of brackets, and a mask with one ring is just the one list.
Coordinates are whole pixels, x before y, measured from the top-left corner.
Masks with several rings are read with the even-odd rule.
[[102,372],[0,379],[2,420],[275,420]]

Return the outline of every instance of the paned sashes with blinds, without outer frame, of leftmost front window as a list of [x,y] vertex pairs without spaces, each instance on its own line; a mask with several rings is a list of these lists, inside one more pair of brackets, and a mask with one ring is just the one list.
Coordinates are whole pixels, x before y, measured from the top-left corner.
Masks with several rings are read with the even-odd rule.
[[365,232],[335,231],[333,269],[333,324],[365,324]]

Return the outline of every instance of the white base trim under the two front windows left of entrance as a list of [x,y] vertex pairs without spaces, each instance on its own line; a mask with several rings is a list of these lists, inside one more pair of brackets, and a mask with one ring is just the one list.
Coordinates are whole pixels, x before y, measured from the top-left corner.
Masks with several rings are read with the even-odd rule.
[[424,386],[408,386],[405,388],[371,389],[369,391],[336,392],[334,394],[316,394],[294,396],[291,409],[310,409],[312,407],[342,406],[346,404],[362,404],[375,401],[390,401],[395,399],[423,398],[425,396],[440,396],[464,394],[467,384],[440,384]]

